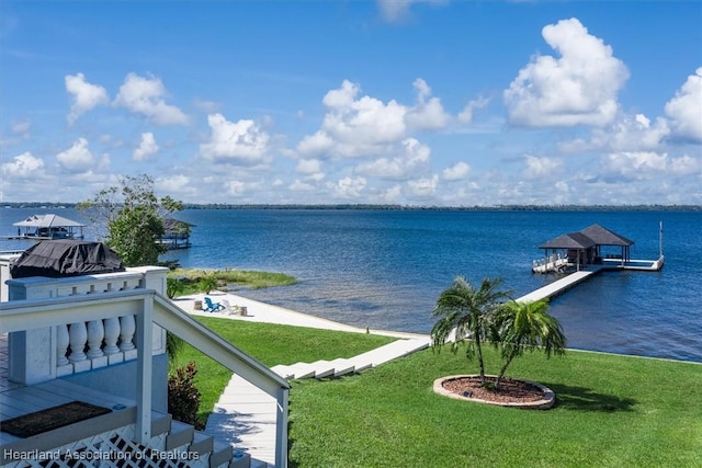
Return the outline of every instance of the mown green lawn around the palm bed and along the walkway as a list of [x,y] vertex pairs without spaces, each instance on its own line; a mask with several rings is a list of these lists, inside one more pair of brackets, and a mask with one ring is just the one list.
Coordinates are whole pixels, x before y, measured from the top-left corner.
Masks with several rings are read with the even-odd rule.
[[[268,365],[350,356],[387,341],[365,334],[203,321]],[[291,465],[702,466],[700,364],[576,351],[551,359],[528,354],[508,374],[551,387],[557,399],[553,409],[535,411],[434,395],[435,378],[475,372],[464,356],[448,351],[419,352],[361,375],[294,381]],[[179,361],[190,356],[182,353]],[[491,350],[487,361],[488,372],[496,369]],[[203,389],[210,393],[205,404],[212,408],[229,375],[215,376],[202,357],[197,363],[201,381],[208,383]]]

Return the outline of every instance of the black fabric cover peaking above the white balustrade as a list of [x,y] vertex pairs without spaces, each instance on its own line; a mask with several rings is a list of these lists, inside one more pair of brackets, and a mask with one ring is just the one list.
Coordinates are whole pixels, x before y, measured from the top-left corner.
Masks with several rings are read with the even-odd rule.
[[102,242],[45,240],[27,249],[10,270],[13,278],[123,272],[120,256]]

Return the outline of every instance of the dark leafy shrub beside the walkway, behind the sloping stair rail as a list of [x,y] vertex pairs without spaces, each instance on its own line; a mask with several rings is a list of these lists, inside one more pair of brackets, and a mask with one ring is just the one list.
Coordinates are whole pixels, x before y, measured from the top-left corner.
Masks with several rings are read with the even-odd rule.
[[168,412],[174,420],[201,430],[204,425],[197,420],[201,393],[195,387],[196,374],[195,362],[191,361],[168,377]]

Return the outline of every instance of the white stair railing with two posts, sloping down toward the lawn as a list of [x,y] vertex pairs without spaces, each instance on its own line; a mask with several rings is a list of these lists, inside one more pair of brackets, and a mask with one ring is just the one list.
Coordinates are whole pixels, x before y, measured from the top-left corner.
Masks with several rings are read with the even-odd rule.
[[[148,285],[148,283],[147,273],[146,284]],[[290,395],[287,380],[215,334],[151,288],[0,303],[0,332],[13,334],[30,333],[45,328],[56,330],[57,327],[71,321],[79,324],[98,321],[104,323],[105,319],[127,316],[133,316],[136,320],[135,340],[138,350],[134,379],[137,395],[134,435],[136,442],[146,444],[151,437],[154,352],[145,344],[154,335],[154,330],[162,327],[161,330],[169,330],[182,338],[195,349],[275,398],[275,466],[280,468],[287,466],[287,404]],[[41,328],[36,329],[39,323]],[[109,389],[104,390],[109,391]]]

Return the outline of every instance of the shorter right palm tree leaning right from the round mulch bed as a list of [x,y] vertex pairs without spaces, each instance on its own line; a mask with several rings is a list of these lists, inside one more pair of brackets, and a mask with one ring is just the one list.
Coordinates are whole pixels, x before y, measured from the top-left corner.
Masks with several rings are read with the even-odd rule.
[[499,388],[507,367],[524,351],[541,349],[551,354],[565,354],[566,336],[558,320],[548,313],[546,299],[535,303],[510,300],[492,316],[490,340],[502,355],[502,367],[495,381]]

